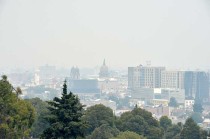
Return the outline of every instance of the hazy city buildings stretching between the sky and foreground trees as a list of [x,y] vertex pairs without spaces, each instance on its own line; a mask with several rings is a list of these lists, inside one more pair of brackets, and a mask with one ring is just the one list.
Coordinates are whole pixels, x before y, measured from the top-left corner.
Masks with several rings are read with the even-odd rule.
[[[131,111],[136,105],[159,119],[168,116],[172,122],[184,121],[193,114],[196,101],[203,104],[200,126],[210,125],[209,72],[201,70],[167,70],[150,63],[128,67],[127,71],[111,70],[105,59],[98,69],[80,71],[44,65],[34,71],[8,73],[9,81],[22,88],[24,99],[52,100],[60,97],[64,80],[68,90],[90,107],[103,104],[116,115]],[[2,74],[3,75],[3,74]],[[176,102],[171,104],[173,98]]]

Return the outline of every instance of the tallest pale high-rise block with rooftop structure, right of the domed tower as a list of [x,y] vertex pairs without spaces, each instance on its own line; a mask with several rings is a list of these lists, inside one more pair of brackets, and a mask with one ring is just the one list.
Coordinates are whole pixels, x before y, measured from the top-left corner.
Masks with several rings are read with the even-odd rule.
[[137,66],[128,67],[128,88],[160,88],[161,72],[165,67]]

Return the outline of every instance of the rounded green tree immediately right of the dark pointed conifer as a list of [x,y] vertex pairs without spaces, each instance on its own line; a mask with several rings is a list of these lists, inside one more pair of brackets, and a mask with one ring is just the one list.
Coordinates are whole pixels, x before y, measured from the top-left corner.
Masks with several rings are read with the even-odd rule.
[[97,104],[87,108],[83,119],[88,123],[86,134],[90,134],[95,128],[100,127],[103,124],[113,126],[114,114],[111,108],[102,104]]

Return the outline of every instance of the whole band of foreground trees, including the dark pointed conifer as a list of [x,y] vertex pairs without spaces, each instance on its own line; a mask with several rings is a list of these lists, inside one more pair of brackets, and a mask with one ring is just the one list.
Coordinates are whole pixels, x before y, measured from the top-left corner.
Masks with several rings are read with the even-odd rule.
[[135,107],[115,116],[112,109],[94,105],[86,110],[79,98],[67,92],[45,102],[39,98],[21,100],[18,91],[0,80],[0,138],[42,139],[206,139],[207,132],[191,119],[172,124],[163,116],[158,121],[150,112]]

